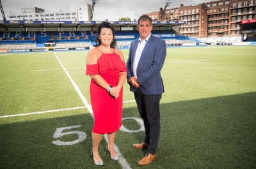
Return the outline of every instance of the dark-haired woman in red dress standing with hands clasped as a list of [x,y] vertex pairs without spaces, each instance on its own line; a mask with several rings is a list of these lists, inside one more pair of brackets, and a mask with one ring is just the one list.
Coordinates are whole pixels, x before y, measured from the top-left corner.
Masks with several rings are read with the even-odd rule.
[[124,55],[115,48],[115,29],[109,22],[97,28],[95,48],[86,59],[86,75],[92,78],[90,99],[94,126],[92,129],[92,156],[95,165],[103,165],[99,144],[108,134],[106,147],[111,159],[118,160],[114,149],[115,132],[122,126],[123,85],[127,77]]

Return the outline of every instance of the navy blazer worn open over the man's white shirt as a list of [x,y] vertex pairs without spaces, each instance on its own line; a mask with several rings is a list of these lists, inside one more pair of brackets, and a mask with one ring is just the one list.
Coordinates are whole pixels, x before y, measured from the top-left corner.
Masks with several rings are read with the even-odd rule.
[[[133,63],[135,52],[138,47],[139,40],[132,41],[127,59],[127,79],[134,77]],[[151,34],[137,67],[137,77],[140,84],[142,94],[163,94],[164,85],[161,77],[161,69],[163,68],[164,59],[166,57],[166,43],[163,39],[157,38]],[[129,81],[128,81],[129,83]],[[138,91],[137,88],[130,85],[130,91]]]

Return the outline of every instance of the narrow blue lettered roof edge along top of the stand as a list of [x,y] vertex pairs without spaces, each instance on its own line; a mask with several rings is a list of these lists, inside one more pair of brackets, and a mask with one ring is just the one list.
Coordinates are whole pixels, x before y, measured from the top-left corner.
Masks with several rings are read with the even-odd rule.
[[[0,20],[0,27],[97,27],[102,21],[26,21],[26,20]],[[137,21],[118,22],[108,21],[113,27],[136,27]],[[152,21],[154,27],[170,27],[186,24],[186,21]]]

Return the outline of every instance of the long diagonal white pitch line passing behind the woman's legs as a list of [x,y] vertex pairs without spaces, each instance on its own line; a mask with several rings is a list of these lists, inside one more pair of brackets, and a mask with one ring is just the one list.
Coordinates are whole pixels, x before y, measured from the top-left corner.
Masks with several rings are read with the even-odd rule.
[[[92,111],[92,107],[88,104],[88,102],[86,101],[86,98],[84,98],[82,92],[79,90],[79,88],[77,87],[76,83],[74,82],[74,80],[72,79],[72,77],[69,75],[68,71],[66,70],[66,68],[63,66],[62,62],[60,61],[60,59],[58,58],[58,56],[55,54],[54,55],[56,57],[56,59],[58,59],[58,61],[60,62],[61,67],[63,68],[63,70],[65,71],[65,73],[67,74],[69,80],[71,81],[71,83],[74,85],[77,93],[79,94],[80,98],[82,99],[85,107],[87,108],[88,112],[90,112],[90,114],[93,117],[93,111]],[[105,140],[106,140],[106,136],[104,136]],[[108,138],[107,138],[108,139]],[[108,140],[106,140],[106,142],[108,142]],[[129,163],[127,163],[126,159],[124,158],[124,156],[122,155],[122,153],[119,151],[118,147],[116,146],[116,144],[114,145],[116,148],[116,154],[118,154],[118,162],[120,163],[120,165],[122,166],[122,168],[125,169],[131,169],[131,166],[129,165]]]

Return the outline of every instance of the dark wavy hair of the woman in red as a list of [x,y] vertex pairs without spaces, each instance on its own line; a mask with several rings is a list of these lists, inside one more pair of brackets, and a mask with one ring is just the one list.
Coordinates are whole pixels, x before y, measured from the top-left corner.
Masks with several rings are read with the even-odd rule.
[[109,22],[105,22],[105,21],[100,23],[99,26],[97,27],[97,35],[94,38],[94,41],[96,42],[96,44],[93,45],[93,47],[99,47],[99,45],[101,45],[101,40],[99,38],[99,35],[102,28],[111,29],[113,34],[113,40],[111,41],[110,47],[115,48],[116,47],[115,29]]

